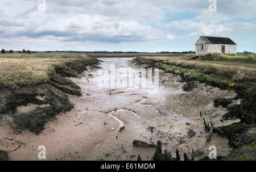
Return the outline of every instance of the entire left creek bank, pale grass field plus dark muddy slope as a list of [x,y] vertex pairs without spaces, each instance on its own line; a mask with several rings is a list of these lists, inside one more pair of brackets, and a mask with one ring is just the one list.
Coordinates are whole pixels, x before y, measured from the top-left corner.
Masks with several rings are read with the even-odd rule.
[[[0,55],[0,118],[13,118],[15,131],[29,130],[39,134],[44,125],[60,112],[73,108],[65,93],[81,95],[71,79],[98,64],[96,58],[73,53],[14,53]],[[37,99],[36,97],[44,97]],[[30,112],[17,114],[18,106],[48,104]]]

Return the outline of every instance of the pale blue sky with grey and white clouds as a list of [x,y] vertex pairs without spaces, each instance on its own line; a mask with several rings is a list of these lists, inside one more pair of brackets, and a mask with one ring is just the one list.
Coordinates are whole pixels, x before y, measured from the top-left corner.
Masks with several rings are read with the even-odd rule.
[[216,1],[217,11],[209,0],[1,0],[0,48],[190,51],[205,35],[256,52],[256,1]]

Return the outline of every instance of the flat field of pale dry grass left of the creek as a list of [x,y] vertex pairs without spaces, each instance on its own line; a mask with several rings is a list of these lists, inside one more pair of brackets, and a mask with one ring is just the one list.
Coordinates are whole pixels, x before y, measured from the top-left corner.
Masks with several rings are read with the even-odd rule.
[[13,53],[0,54],[0,90],[43,85],[56,66],[75,61],[89,61],[86,54],[74,53]]

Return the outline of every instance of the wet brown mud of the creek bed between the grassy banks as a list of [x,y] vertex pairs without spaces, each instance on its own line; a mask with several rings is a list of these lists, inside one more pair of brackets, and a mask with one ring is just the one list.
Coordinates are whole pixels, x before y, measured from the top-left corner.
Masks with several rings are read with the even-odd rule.
[[[133,146],[133,141],[140,140],[156,145],[161,140],[163,150],[167,149],[170,154],[175,154],[176,149],[179,149],[180,155],[186,153],[187,157],[192,157],[192,149],[199,150],[196,160],[209,154],[210,145],[217,147],[218,156],[227,156],[230,153],[232,148],[228,145],[228,139],[218,136],[217,133],[212,136],[212,141],[207,142],[209,133],[205,131],[202,117],[220,127],[224,125],[221,119],[228,110],[222,106],[214,107],[213,101],[220,97],[234,98],[234,91],[220,90],[204,83],[200,83],[192,91],[183,91],[185,83],[179,82],[181,77],[172,74],[160,75],[159,91],[155,95],[148,94],[147,89],[134,85],[130,80],[130,87],[119,89],[105,88],[98,84],[98,80],[104,77],[104,69],[109,69],[112,63],[117,69],[140,68],[130,63],[132,59],[100,58],[101,69],[88,68],[80,78],[69,78],[81,88],[80,97],[76,94],[68,94],[66,97],[62,91],[59,90],[59,93],[56,88],[52,88],[56,92],[42,90],[41,94],[34,91],[30,97],[20,96],[19,98],[26,99],[26,103],[11,98],[5,100],[8,108],[0,108],[4,112],[10,110],[15,113],[17,107],[27,106],[30,102],[51,106],[37,107],[27,113],[30,116],[34,116],[35,112],[41,114],[40,118],[33,117],[30,121],[35,125],[20,122],[27,115],[15,115],[15,123],[20,122],[21,126],[30,131],[16,133],[8,118],[0,120],[0,138],[14,139],[5,140],[5,144],[0,144],[0,150],[8,151],[23,142],[19,149],[9,153],[10,160],[38,160],[40,145],[46,146],[47,160],[137,160],[138,154],[142,160],[151,160],[155,148]],[[64,73],[68,75],[68,72]],[[77,74],[70,76],[75,77]],[[127,79],[122,71],[117,76],[118,81]],[[10,93],[10,97],[12,95]],[[57,105],[59,103],[56,98],[53,98],[55,101],[52,100],[52,95],[59,95],[57,100],[64,101],[60,104],[66,104],[65,107]],[[65,100],[70,100],[71,103],[65,103]],[[60,110],[59,115],[51,113],[53,108]],[[71,111],[64,114],[61,112],[64,109]],[[45,111],[52,115],[43,115]],[[36,121],[44,119],[47,119],[44,126],[36,124]],[[36,135],[31,132],[37,132],[36,129],[43,130]],[[189,137],[189,130],[195,132],[195,136]],[[184,160],[184,156],[180,158]]]

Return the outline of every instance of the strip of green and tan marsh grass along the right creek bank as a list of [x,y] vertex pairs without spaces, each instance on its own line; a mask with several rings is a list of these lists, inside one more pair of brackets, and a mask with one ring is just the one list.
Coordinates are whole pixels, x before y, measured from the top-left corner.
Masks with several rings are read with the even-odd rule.
[[187,81],[198,80],[221,89],[234,89],[243,94],[256,88],[256,68],[238,65],[215,64],[199,60],[185,60],[187,57],[138,57],[138,64],[157,64],[167,73],[183,75]]

